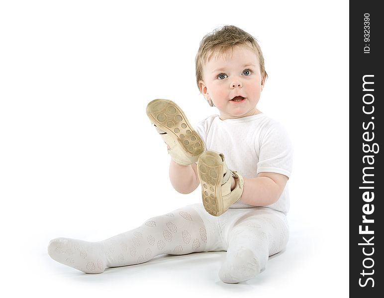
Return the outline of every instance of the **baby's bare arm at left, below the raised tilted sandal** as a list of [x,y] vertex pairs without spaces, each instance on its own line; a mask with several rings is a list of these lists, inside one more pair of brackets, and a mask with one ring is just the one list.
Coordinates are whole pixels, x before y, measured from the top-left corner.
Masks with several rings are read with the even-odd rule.
[[171,159],[169,178],[172,186],[182,194],[189,194],[200,184],[197,176],[197,165],[180,165]]

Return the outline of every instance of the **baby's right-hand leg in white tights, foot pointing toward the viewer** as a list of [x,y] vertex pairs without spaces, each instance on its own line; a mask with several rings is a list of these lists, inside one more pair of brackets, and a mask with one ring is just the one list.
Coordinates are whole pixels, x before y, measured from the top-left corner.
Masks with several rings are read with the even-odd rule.
[[219,277],[224,283],[238,283],[258,275],[268,257],[284,249],[288,223],[277,211],[251,209],[230,224],[223,237],[227,238],[228,249]]

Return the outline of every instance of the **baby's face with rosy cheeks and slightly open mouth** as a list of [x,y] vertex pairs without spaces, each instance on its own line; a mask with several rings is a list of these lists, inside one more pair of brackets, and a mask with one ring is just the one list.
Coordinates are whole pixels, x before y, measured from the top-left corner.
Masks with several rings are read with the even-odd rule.
[[245,46],[236,46],[233,52],[229,50],[205,63],[199,86],[205,99],[218,108],[222,120],[260,113],[256,105],[264,80],[256,53]]

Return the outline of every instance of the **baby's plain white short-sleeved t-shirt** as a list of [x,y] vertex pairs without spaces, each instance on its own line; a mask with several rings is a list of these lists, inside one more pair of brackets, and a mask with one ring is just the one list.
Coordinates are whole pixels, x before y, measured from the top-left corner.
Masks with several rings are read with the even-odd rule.
[[[260,172],[286,175],[292,171],[292,146],[284,127],[265,114],[221,120],[212,115],[195,126],[206,150],[224,154],[229,169],[244,178],[254,178]],[[279,200],[269,206],[287,213],[289,210],[288,185]],[[231,208],[255,208],[237,202]]]

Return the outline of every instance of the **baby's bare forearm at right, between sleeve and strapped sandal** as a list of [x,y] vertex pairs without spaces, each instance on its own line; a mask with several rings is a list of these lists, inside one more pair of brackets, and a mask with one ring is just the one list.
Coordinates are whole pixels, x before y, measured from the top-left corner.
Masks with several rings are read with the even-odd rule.
[[256,178],[244,178],[240,201],[253,206],[268,206],[279,200],[288,177],[277,173],[259,173]]

